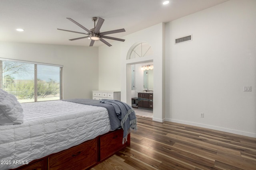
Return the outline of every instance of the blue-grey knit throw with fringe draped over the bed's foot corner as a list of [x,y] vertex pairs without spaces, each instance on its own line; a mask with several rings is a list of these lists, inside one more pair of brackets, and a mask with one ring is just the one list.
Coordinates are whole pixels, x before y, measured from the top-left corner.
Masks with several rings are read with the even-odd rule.
[[102,99],[101,103],[111,104],[114,106],[116,111],[116,115],[118,119],[121,120],[121,127],[124,130],[123,135],[123,144],[127,142],[128,134],[130,133],[130,129],[137,130],[137,119],[134,112],[134,109],[124,102],[120,102],[118,100],[108,100]]

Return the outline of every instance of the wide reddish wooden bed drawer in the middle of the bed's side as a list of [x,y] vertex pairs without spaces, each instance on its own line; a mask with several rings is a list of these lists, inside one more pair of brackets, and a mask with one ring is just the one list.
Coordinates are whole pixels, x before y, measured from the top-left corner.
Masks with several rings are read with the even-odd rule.
[[84,170],[97,163],[97,139],[72,147],[48,158],[49,170]]

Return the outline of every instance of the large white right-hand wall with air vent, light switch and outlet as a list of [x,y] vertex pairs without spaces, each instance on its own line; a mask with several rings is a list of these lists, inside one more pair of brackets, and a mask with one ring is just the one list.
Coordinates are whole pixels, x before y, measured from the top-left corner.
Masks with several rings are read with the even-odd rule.
[[255,30],[255,0],[166,23],[166,120],[256,137]]

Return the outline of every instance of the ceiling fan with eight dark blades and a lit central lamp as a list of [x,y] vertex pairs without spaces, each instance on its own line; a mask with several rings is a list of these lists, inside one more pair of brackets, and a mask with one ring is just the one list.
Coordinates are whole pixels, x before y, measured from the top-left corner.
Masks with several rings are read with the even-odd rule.
[[[65,29],[58,29],[58,30],[61,30],[61,31],[68,31],[68,32],[72,32],[72,33],[80,33],[80,34],[85,34],[85,35],[88,35],[88,36],[85,36],[85,37],[79,37],[79,38],[74,38],[74,39],[70,39],[70,41],[74,41],[74,40],[77,40],[77,39],[83,39],[83,38],[90,38],[91,39],[91,43],[90,43],[90,46],[93,46],[94,44],[94,41],[102,41],[103,43],[105,43],[106,45],[108,45],[109,47],[112,46],[110,43],[108,43],[106,40],[104,40],[103,38],[106,38],[106,39],[113,39],[113,40],[116,40],[116,41],[125,41],[125,39],[120,39],[120,38],[115,38],[115,37],[109,37],[109,36],[105,36],[105,35],[108,35],[108,34],[112,34],[112,33],[120,33],[120,32],[125,32],[125,29],[116,29],[116,30],[112,30],[112,31],[106,31],[106,32],[100,32],[100,28],[104,22],[104,19],[102,18],[98,18],[97,17],[92,17],[92,21],[94,21],[94,28],[92,29],[87,29],[86,27],[82,26],[80,23],[77,23],[76,21],[72,20],[71,18],[67,18],[68,20],[74,22],[76,25],[78,25],[79,27],[81,27],[82,29],[84,29],[85,31],[87,31],[88,33],[81,33],[81,32],[76,32],[76,31],[69,31],[69,30],[65,30]],[[95,22],[98,20],[97,22],[97,25],[95,26]]]

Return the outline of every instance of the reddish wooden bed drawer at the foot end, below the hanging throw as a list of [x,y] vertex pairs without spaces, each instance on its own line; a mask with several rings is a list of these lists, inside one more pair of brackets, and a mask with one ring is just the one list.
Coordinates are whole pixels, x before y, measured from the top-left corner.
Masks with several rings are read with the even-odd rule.
[[100,160],[114,154],[117,150],[127,146],[122,145],[123,129],[119,129],[100,137]]

